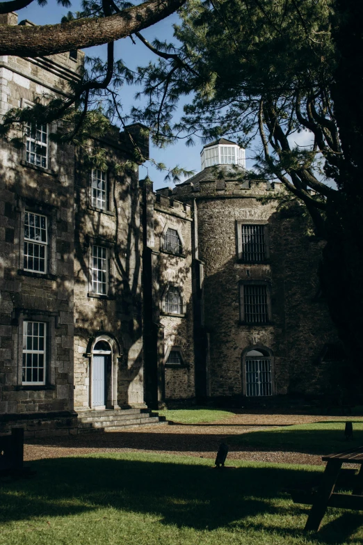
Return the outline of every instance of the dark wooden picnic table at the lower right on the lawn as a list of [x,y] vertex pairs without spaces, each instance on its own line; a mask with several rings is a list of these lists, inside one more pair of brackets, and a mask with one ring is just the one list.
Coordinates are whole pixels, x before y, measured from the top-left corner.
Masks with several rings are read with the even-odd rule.
[[[323,456],[326,461],[325,471],[322,475],[320,487],[316,492],[305,494],[293,494],[295,503],[312,505],[305,530],[318,532],[327,507],[339,507],[340,509],[352,509],[363,511],[363,447],[346,450],[330,456]],[[344,494],[334,492],[337,479],[343,464],[359,464],[360,470],[355,476],[353,493]]]

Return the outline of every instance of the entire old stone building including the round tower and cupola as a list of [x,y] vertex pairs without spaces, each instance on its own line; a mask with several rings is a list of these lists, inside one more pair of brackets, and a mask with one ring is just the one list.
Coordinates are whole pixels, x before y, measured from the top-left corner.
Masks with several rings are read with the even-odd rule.
[[[17,15],[0,23],[17,24]],[[22,22],[20,24],[31,24]],[[0,115],[70,95],[83,53],[0,57]],[[29,123],[0,143],[0,433],[159,422],[148,409],[206,397],[322,393],[336,335],[316,297],[323,242],[244,150],[204,146],[202,171],[154,193],[120,171],[139,125],[81,149]],[[328,354],[328,355],[327,355]]]

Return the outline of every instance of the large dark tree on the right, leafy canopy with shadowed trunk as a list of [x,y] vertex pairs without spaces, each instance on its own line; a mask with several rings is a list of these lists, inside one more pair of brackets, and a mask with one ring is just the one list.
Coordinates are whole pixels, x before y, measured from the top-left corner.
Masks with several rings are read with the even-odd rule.
[[[360,349],[363,274],[363,3],[355,0],[190,0],[175,27],[193,70],[167,59],[140,68],[161,145],[195,135],[255,146],[255,175],[302,200],[325,239],[323,296],[346,349]],[[181,122],[181,95],[195,95]],[[298,145],[305,134],[311,145]],[[353,361],[353,359],[351,360]],[[356,366],[362,373],[363,368]],[[360,377],[359,381],[362,381]]]

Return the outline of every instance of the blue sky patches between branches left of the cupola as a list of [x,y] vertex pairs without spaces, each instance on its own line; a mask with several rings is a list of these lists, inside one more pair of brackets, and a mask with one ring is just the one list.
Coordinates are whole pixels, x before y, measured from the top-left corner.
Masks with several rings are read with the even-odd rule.
[[[36,1],[30,4],[27,8],[18,10],[18,20],[28,19],[35,24],[55,24],[61,22],[61,17],[65,15],[69,10],[76,11],[79,9],[79,1],[72,2],[71,8],[63,8],[58,6],[55,0],[49,0],[47,6],[41,8]],[[177,23],[179,17],[176,14],[170,15],[163,21],[154,24],[149,29],[143,31],[143,35],[149,41],[154,38],[159,40],[172,41],[173,29],[172,24]],[[90,56],[104,56],[106,54],[106,45],[98,47],[90,47],[84,49],[86,54]],[[134,45],[130,38],[124,38],[118,40],[115,45],[115,58],[122,58],[125,64],[129,68],[136,68],[138,65],[143,65],[148,61],[156,60],[156,56],[152,54],[143,44],[136,42]],[[136,92],[140,90],[140,87],[125,86],[122,91],[122,102],[124,104],[124,111],[126,112],[132,104],[136,104],[134,96]],[[181,107],[179,108],[181,112]],[[150,149],[150,155],[158,162],[163,162],[169,168],[179,165],[183,166],[187,170],[193,170],[195,172],[200,171],[200,150],[202,144],[197,142],[193,148],[186,148],[184,141],[180,141],[175,145],[170,145],[168,148],[159,150],[154,146]],[[165,173],[159,172],[156,168],[150,164],[145,167],[140,167],[140,177],[149,175],[154,182],[154,187],[165,187],[166,185],[172,185],[172,182],[165,182]]]

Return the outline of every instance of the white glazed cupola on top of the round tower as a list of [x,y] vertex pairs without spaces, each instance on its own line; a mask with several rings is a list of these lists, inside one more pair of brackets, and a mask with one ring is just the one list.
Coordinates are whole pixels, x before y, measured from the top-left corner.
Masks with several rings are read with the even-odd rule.
[[202,170],[213,165],[238,165],[245,168],[245,150],[225,138],[204,145],[200,159]]

